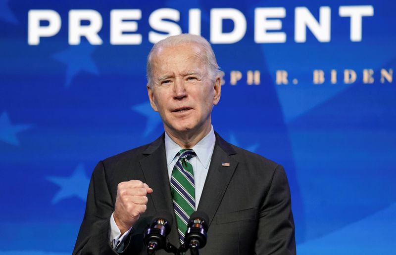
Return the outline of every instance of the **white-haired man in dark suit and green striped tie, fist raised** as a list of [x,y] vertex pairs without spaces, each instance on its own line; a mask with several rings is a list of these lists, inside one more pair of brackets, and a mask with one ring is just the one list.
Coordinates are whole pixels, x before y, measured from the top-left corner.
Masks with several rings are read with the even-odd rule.
[[296,254],[283,168],[213,131],[221,83],[210,44],[188,34],[157,42],[147,76],[165,133],[99,162],[73,254],[146,254],[143,233],[160,210],[174,217],[168,240],[175,246],[198,210],[209,216],[201,254]]

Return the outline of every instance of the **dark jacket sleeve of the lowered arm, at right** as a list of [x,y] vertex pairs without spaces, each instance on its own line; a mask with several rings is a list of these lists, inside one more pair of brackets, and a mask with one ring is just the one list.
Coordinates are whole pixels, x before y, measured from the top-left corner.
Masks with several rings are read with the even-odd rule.
[[255,254],[296,255],[295,226],[289,183],[278,165],[259,211]]

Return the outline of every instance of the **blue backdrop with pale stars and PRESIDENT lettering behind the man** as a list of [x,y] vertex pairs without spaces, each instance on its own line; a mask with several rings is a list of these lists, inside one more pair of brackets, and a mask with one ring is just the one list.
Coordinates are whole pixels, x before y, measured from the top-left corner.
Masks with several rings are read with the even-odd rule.
[[[357,11],[360,5],[368,14],[359,19],[354,12],[351,28],[340,6]],[[275,13],[267,21],[255,13],[264,7],[277,8],[267,9]],[[285,167],[298,254],[394,253],[396,3],[0,0],[0,254],[70,254],[97,162],[163,132],[145,78],[149,32],[166,35],[172,27],[149,21],[161,8],[180,13],[178,21],[161,19],[183,33],[189,32],[189,10],[199,9],[201,35],[213,41],[218,16],[211,9],[233,8],[245,17],[246,31],[234,42],[213,42],[224,72],[213,126],[229,142]],[[37,24],[28,19],[38,9],[53,10],[60,28],[56,17],[41,16]],[[77,33],[69,35],[69,11],[76,9],[99,13],[101,43],[86,37],[69,43]],[[141,42],[110,41],[114,9],[141,10],[129,32]],[[224,19],[217,37],[243,30],[242,21]],[[267,33],[283,34],[258,42],[263,24]],[[39,43],[28,41],[46,27],[54,31]],[[351,29],[361,32],[360,40],[351,39]]]

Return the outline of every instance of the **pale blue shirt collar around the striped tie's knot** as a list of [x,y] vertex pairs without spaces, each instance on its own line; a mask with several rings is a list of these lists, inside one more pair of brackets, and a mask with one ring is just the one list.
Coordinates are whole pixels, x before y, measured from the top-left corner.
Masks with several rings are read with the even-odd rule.
[[[215,141],[216,136],[214,135],[213,126],[211,126],[210,132],[192,148],[204,168],[207,168],[209,165]],[[182,147],[175,143],[165,132],[166,163],[168,167],[181,149]]]

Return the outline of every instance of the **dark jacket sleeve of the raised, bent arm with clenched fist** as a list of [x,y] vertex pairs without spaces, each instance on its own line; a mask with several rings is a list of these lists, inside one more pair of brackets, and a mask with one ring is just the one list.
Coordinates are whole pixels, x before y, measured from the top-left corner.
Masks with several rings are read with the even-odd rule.
[[109,220],[114,203],[109,192],[103,162],[96,166],[89,185],[87,206],[73,255],[117,254],[110,246]]

